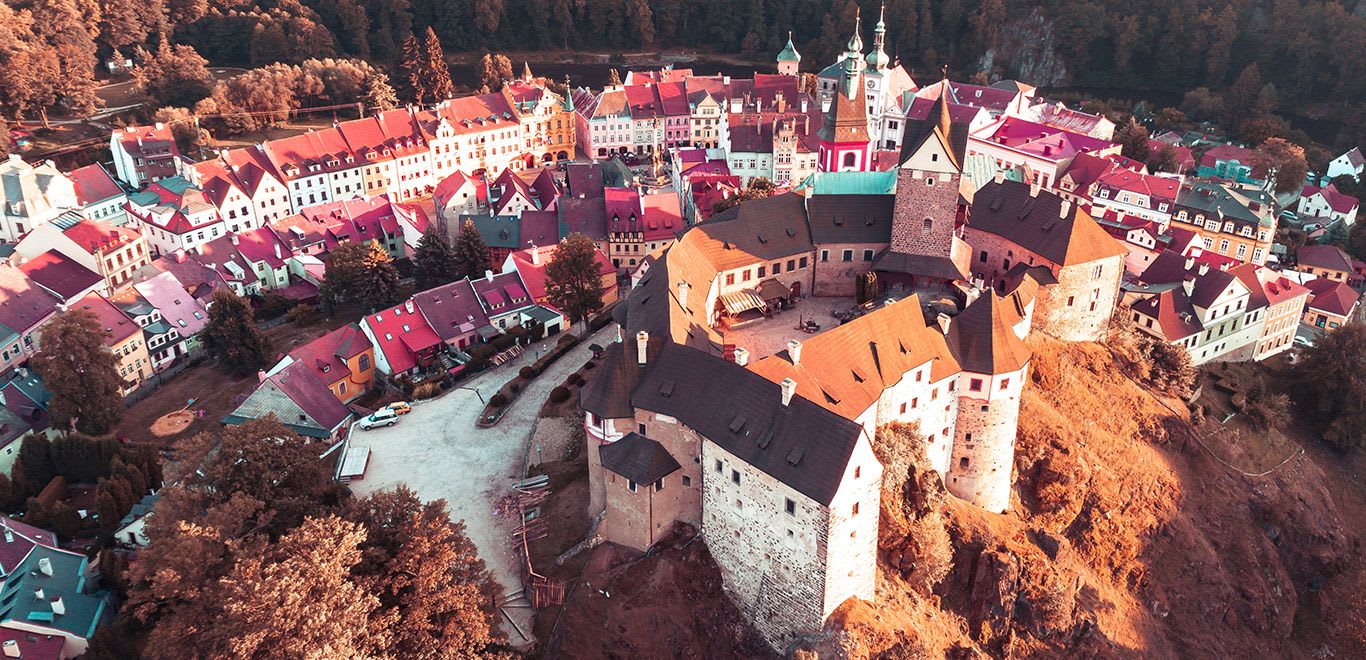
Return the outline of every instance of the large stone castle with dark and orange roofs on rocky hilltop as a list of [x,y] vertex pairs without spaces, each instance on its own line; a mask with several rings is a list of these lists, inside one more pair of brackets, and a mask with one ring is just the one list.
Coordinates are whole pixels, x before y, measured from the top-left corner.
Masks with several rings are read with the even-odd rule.
[[[846,82],[861,75],[848,64],[859,46]],[[1083,209],[1000,176],[964,198],[967,128],[944,96],[904,127],[899,167],[873,172],[846,139],[863,105],[836,94],[821,149],[837,167],[802,193],[717,213],[652,258],[582,391],[600,534],[645,549],[694,525],[776,648],[874,597],[877,429],[917,424],[952,495],[1005,511],[1024,338],[1098,339],[1119,295],[1126,249]],[[731,331],[869,277],[885,303],[783,350],[761,354]]]

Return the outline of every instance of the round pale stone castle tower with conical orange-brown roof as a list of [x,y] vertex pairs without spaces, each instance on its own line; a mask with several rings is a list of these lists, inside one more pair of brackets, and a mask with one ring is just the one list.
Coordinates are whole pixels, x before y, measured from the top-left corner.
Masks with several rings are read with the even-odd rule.
[[988,511],[1011,504],[1011,470],[1019,426],[1020,392],[1029,374],[1030,350],[1012,299],[981,295],[948,329],[948,340],[963,372],[958,377],[958,420],[948,492]]

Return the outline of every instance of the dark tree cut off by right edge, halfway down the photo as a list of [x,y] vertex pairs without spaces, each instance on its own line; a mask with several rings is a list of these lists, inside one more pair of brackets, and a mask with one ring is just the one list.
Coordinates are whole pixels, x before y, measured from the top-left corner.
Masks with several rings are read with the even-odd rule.
[[1347,452],[1366,439],[1366,325],[1321,336],[1294,368],[1291,395],[1330,447]]

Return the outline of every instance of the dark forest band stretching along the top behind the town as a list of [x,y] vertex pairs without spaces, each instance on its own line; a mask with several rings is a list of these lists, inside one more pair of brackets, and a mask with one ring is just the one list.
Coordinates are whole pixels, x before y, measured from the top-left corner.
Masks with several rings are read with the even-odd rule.
[[[86,113],[100,61],[161,42],[213,66],[357,57],[398,74],[408,34],[448,55],[652,49],[768,61],[788,30],[803,68],[833,61],[878,0],[5,0],[0,108]],[[1355,10],[1351,5],[1356,5]],[[888,0],[887,51],[912,74],[1016,77],[1046,87],[1223,90],[1257,66],[1274,109],[1347,124],[1366,105],[1366,3],[1348,0]],[[395,79],[398,79],[395,77]],[[467,81],[460,83],[469,83]]]

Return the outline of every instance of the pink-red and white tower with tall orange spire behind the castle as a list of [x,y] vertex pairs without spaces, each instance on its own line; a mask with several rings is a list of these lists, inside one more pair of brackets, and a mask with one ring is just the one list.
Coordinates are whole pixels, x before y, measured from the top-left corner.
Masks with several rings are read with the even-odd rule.
[[867,172],[873,169],[873,138],[867,131],[867,105],[863,101],[863,40],[861,19],[855,14],[854,36],[841,63],[840,83],[825,111],[820,131],[820,169],[822,172]]

